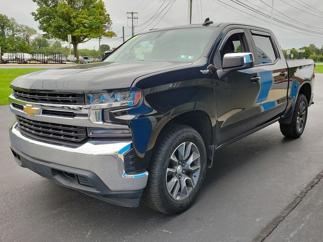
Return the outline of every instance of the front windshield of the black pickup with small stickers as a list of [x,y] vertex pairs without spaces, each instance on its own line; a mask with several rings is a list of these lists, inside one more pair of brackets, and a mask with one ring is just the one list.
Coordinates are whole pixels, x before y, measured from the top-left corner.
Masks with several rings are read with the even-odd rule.
[[194,62],[213,33],[213,28],[188,28],[139,34],[113,51],[104,62]]

